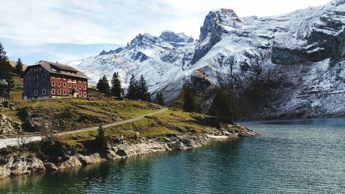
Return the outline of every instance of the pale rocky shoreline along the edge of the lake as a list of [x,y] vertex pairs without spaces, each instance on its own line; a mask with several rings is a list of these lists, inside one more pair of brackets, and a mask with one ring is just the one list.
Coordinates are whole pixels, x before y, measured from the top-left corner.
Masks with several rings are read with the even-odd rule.
[[[235,128],[232,126],[236,126]],[[238,129],[240,128],[240,129]],[[57,164],[42,161],[30,153],[19,153],[8,157],[6,164],[0,166],[0,177],[30,175],[41,171],[57,171],[63,168],[95,164],[112,159],[122,159],[135,155],[147,155],[163,151],[186,150],[206,146],[213,142],[224,142],[230,138],[258,135],[255,131],[235,125],[221,128],[217,133],[203,135],[176,135],[173,137],[143,139],[137,144],[115,144],[108,146],[105,152],[95,152],[88,155],[75,154]]]

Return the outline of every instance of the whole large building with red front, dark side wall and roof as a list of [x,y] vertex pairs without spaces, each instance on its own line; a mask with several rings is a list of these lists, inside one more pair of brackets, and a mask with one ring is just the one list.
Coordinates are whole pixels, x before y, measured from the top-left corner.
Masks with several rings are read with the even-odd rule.
[[71,66],[39,61],[23,75],[23,99],[88,97],[88,77]]

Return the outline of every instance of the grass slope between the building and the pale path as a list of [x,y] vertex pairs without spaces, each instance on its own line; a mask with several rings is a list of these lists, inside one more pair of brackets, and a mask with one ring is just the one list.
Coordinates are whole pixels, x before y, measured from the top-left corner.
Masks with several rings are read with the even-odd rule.
[[[7,115],[14,121],[25,123],[25,115],[29,110],[38,111],[38,108],[43,108],[44,111],[47,112],[48,110],[53,110],[53,115],[60,115],[59,117],[61,117],[64,112],[69,111],[70,115],[68,117],[63,117],[63,124],[57,126],[57,130],[59,131],[76,130],[90,126],[109,124],[130,119],[138,115],[152,113],[162,108],[157,104],[145,101],[106,98],[103,93],[99,93],[95,88],[89,89],[90,97],[95,98],[95,100],[91,101],[77,98],[23,100],[21,99],[23,80],[20,77],[13,77],[13,80],[14,88],[10,93],[10,103],[14,106],[15,110],[0,107],[0,114]],[[35,129],[23,128],[23,130],[31,131]]]

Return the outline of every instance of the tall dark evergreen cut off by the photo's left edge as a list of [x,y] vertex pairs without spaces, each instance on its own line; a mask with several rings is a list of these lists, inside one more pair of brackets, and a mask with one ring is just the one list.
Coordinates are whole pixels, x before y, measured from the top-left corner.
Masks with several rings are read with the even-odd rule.
[[13,88],[13,80],[12,80],[12,66],[8,62],[8,57],[6,56],[6,51],[3,48],[0,42],[0,79],[6,79],[8,83],[8,90]]

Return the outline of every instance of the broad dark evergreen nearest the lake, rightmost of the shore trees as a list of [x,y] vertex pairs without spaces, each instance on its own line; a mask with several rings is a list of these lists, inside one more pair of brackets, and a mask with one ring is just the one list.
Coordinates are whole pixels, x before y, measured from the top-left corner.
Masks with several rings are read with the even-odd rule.
[[235,122],[237,119],[237,107],[233,90],[220,88],[210,107],[210,115],[217,117],[222,122]]

